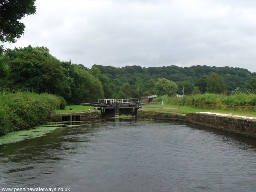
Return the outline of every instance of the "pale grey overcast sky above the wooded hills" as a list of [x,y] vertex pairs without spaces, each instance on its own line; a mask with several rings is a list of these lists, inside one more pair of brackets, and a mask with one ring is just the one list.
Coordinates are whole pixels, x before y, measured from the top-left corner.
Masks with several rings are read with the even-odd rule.
[[44,46],[62,61],[256,72],[255,0],[37,0],[5,47]]

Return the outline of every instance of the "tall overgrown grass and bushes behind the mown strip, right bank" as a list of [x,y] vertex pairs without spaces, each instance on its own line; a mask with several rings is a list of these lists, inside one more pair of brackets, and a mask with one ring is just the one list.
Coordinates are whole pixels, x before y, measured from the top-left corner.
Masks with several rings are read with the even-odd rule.
[[[161,101],[162,98],[156,98],[154,101]],[[204,109],[244,109],[256,111],[256,94],[244,94],[226,96],[221,94],[200,94],[185,96],[184,98],[164,96],[166,104],[188,105]]]

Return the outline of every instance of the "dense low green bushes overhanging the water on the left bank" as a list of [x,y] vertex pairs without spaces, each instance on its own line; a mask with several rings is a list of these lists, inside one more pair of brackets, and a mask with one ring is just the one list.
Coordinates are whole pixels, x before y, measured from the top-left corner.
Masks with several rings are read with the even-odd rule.
[[63,98],[47,93],[1,94],[0,135],[44,124],[53,110],[64,108],[65,105]]

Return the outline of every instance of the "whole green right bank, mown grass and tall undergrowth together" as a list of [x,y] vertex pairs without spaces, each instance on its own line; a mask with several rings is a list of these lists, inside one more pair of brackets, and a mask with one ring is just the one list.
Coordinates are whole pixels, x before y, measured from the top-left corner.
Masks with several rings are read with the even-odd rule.
[[[155,102],[162,101],[162,97],[154,99]],[[234,115],[244,115],[256,117],[256,95],[237,94],[226,96],[221,94],[200,94],[185,96],[184,98],[164,96],[164,106],[146,106],[150,110],[169,111],[177,113],[193,112],[214,112],[232,113]]]

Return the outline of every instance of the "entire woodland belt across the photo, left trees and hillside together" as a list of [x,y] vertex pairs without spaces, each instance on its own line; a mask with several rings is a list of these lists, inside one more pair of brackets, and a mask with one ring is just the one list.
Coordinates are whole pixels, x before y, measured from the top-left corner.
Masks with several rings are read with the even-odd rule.
[[177,84],[177,93],[250,92],[256,90],[256,73],[233,67],[111,67],[91,69],[60,61],[46,47],[6,49],[0,55],[0,87],[9,92],[31,91],[62,96],[67,103],[99,98],[140,98],[156,94],[157,79]]

